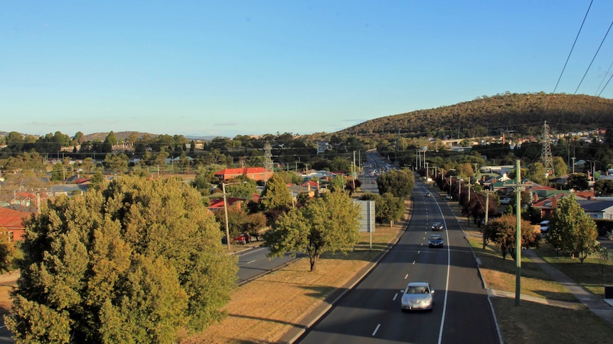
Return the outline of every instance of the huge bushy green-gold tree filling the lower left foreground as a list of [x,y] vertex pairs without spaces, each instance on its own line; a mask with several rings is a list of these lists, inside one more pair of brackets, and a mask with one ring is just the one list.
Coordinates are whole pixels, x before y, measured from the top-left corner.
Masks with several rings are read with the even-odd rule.
[[179,179],[114,179],[26,223],[6,326],[19,343],[172,343],[223,318],[237,265]]

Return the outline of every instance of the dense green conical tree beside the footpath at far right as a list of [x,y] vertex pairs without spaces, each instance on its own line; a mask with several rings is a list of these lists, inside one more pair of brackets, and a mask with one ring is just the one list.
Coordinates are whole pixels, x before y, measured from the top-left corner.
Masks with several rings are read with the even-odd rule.
[[563,253],[577,257],[581,262],[598,250],[596,223],[577,203],[574,196],[558,201],[549,226],[548,242]]

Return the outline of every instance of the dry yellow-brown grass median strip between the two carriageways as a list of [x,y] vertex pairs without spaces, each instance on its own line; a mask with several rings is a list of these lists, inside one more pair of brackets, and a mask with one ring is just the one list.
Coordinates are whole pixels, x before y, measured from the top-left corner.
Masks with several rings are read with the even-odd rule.
[[403,230],[400,224],[376,228],[371,238],[361,233],[356,250],[347,255],[322,255],[317,270],[302,259],[238,287],[225,306],[228,317],[181,343],[277,343],[292,326],[313,311],[336,289],[343,287]]

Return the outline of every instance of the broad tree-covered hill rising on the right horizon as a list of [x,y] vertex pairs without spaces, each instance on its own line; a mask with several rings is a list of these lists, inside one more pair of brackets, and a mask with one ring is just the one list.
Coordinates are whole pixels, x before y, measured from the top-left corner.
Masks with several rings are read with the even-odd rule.
[[403,136],[437,138],[500,135],[518,131],[539,135],[547,121],[552,133],[612,128],[613,99],[572,94],[497,94],[436,109],[375,118],[340,134],[363,137]]

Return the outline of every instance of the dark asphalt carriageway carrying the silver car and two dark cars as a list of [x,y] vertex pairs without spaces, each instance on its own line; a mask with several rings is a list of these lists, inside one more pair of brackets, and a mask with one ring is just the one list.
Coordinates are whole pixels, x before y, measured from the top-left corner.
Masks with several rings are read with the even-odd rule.
[[[474,255],[447,202],[417,181],[402,238],[363,281],[299,343],[499,343]],[[444,248],[428,248],[433,221],[445,223]],[[440,233],[440,232],[436,232]],[[432,311],[400,311],[408,282],[430,282]]]

